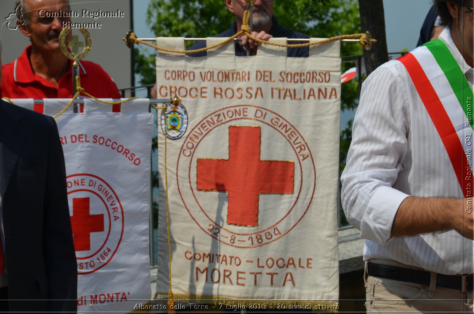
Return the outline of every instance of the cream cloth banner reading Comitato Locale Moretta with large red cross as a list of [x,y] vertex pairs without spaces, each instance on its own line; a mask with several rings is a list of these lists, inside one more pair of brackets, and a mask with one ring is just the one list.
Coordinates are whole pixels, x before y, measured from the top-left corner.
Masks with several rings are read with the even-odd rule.
[[159,111],[156,298],[169,291],[163,129],[174,299],[337,310],[339,46],[307,58],[267,45],[250,57],[233,44],[197,58],[160,51],[158,98],[181,105]]

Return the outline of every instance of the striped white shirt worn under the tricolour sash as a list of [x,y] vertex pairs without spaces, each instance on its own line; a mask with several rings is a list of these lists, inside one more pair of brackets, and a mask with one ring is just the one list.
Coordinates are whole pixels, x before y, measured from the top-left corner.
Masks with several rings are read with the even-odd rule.
[[[457,50],[449,28],[439,38],[472,89],[473,68]],[[442,82],[436,84],[433,82],[438,95],[450,88]],[[459,102],[456,110],[454,117],[457,115],[462,125],[465,115]],[[473,273],[474,242],[456,231],[390,237],[393,219],[406,197],[463,198],[446,148],[398,60],[381,65],[362,85],[341,181],[347,220],[365,239],[364,260],[395,260],[445,275]]]

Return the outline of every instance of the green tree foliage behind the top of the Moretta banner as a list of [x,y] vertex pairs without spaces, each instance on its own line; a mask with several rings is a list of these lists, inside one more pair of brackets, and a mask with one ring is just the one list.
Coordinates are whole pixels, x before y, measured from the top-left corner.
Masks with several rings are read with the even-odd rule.
[[[274,15],[281,25],[311,37],[361,32],[357,0],[275,1]],[[210,37],[228,29],[234,19],[224,0],[152,0],[146,12],[157,37]],[[360,45],[341,45],[341,55],[356,54],[362,54]],[[155,83],[154,55],[148,48],[137,49],[135,72],[141,74],[141,84]]]

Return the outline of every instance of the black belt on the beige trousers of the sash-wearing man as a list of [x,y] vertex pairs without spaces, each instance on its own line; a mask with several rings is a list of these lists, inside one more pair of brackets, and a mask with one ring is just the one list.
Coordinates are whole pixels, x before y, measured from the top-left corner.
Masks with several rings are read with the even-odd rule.
[[[415,270],[394,266],[367,263],[367,274],[392,280],[411,282],[429,286],[431,273],[424,270]],[[474,274],[464,276],[436,275],[436,286],[449,289],[461,289],[462,292],[474,290]]]

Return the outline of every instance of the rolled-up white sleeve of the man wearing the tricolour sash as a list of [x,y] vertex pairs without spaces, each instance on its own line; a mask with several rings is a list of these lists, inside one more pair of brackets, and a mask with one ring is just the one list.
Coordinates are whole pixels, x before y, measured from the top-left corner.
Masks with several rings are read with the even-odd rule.
[[392,66],[379,67],[362,86],[341,175],[347,221],[361,238],[381,245],[391,240],[398,207],[410,196],[392,187],[403,170],[410,125],[406,88]]

